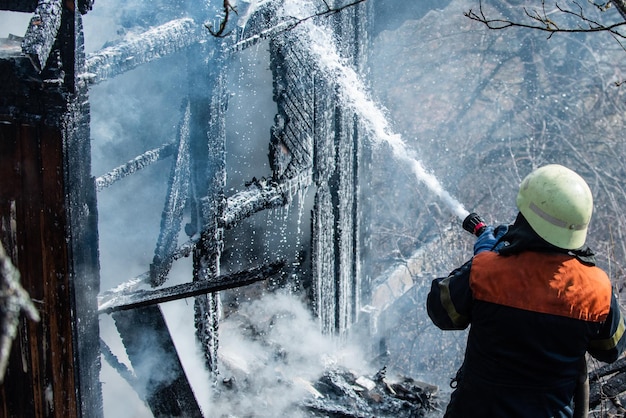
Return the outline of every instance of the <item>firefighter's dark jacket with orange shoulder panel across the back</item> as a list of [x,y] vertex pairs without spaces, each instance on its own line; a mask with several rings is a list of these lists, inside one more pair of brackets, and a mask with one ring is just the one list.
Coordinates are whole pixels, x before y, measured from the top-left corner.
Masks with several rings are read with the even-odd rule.
[[435,325],[471,324],[446,417],[571,417],[585,353],[613,362],[625,348],[605,272],[591,257],[529,240],[528,229],[513,226],[508,248],[477,254],[432,283]]

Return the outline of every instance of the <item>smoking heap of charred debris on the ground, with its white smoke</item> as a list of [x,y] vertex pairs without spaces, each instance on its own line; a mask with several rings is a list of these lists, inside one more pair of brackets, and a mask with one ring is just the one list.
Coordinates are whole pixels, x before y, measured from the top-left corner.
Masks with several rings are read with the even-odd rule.
[[221,332],[215,416],[441,416],[437,386],[396,374],[384,359],[368,360],[362,345],[320,334],[288,295],[241,303]]

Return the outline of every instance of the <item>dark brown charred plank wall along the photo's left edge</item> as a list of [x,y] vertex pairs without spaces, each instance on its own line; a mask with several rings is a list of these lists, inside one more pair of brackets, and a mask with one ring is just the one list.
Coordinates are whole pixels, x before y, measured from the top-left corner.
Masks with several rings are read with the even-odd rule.
[[20,318],[0,384],[5,416],[102,416],[89,101],[75,73],[82,19],[63,4],[46,4],[61,15],[57,39],[38,44],[52,45],[50,58],[32,51],[41,72],[23,54],[0,57],[0,223],[11,225],[0,239],[40,312],[39,322]]

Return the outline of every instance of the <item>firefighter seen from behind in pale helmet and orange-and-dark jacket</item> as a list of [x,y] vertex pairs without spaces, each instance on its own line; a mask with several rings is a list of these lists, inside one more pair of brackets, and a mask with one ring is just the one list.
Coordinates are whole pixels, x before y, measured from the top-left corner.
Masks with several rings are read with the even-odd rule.
[[433,323],[471,324],[445,418],[573,417],[586,353],[614,362],[625,349],[611,282],[584,248],[587,183],[543,166],[522,181],[517,208],[512,225],[483,228],[472,259],[432,282]]

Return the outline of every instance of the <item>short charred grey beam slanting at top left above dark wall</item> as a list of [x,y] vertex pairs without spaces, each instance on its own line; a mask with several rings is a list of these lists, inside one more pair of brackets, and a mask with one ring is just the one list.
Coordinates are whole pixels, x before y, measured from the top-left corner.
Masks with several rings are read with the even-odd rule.
[[38,72],[45,67],[56,41],[61,26],[62,9],[61,0],[41,0],[30,19],[22,41],[22,53],[30,59]]

